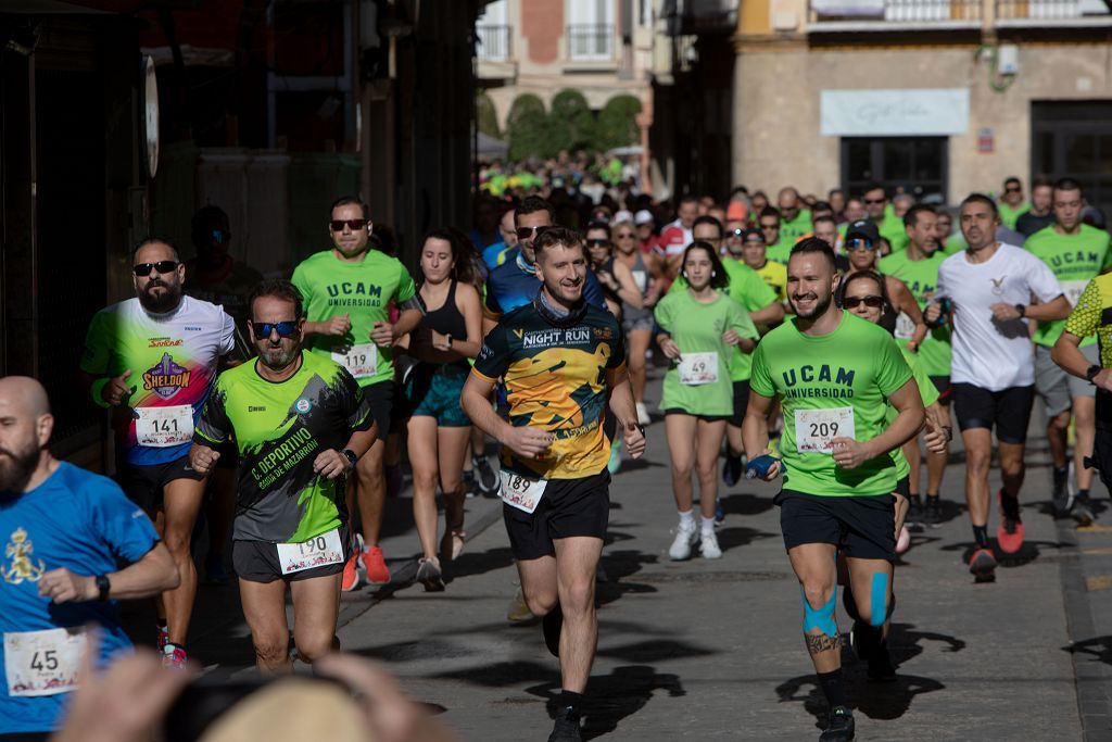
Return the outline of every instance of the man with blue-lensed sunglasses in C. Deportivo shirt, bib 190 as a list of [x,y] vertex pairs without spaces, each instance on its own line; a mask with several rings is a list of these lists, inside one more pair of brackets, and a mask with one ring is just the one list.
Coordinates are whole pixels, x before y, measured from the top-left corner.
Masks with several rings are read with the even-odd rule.
[[301,295],[286,280],[260,284],[248,327],[258,358],[229,369],[197,425],[190,462],[201,473],[220,445],[239,449],[232,564],[264,672],[291,672],[286,590],[298,656],[332,649],[351,537],[344,481],[375,443],[369,400],[340,364],[302,349]]

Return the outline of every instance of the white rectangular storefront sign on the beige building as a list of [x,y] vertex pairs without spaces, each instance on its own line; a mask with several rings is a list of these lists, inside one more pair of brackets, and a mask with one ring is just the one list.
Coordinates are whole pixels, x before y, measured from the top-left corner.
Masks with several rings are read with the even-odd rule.
[[826,137],[936,137],[969,129],[967,88],[823,90],[821,95]]

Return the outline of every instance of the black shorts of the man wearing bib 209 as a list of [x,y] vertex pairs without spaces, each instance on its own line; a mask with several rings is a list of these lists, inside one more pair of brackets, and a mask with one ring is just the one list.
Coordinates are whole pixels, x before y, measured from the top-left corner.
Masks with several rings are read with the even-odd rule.
[[892,495],[823,497],[783,489],[773,502],[780,505],[780,527],[787,550],[802,544],[833,544],[846,556],[895,560]]

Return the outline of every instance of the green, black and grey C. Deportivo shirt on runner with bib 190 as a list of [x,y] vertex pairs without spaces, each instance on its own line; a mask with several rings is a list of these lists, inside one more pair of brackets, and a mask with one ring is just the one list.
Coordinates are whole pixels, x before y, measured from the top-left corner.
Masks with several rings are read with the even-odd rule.
[[319,476],[314,461],[322,451],[342,449],[374,418],[359,385],[328,358],[302,350],[301,367],[277,383],[259,376],[258,363],[220,374],[193,441],[236,441],[234,538],[299,544],[347,520],[344,477]]

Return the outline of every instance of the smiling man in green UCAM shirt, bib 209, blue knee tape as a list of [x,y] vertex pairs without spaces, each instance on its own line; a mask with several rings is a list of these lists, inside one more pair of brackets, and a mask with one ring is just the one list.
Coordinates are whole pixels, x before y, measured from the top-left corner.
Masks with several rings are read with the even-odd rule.
[[[923,399],[900,347],[878,325],[840,309],[834,251],[802,240],[787,264],[795,318],[753,354],[745,414],[747,474],[771,482],[792,567],[803,593],[803,633],[831,712],[822,740],[852,740],[842,677],[836,555],[846,556],[858,619],[851,641],[867,660],[886,631],[895,560],[891,453],[923,426]],[[768,410],[784,407],[783,461],[768,451]],[[891,424],[888,403],[896,409]]]

